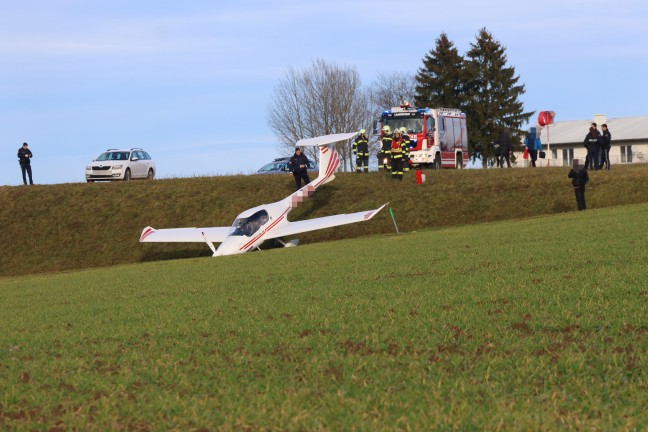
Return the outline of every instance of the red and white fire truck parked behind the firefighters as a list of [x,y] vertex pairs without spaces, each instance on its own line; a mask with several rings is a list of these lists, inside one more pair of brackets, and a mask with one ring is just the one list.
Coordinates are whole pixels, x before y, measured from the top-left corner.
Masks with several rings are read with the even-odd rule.
[[379,123],[381,134],[384,126],[392,133],[405,127],[414,165],[440,169],[468,163],[466,114],[458,109],[392,107],[383,111]]

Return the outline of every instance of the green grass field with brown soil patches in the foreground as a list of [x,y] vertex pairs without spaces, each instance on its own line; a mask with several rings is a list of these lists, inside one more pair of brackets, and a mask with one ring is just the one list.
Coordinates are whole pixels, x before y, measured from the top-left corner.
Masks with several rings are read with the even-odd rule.
[[646,430],[648,204],[0,279],[5,430]]

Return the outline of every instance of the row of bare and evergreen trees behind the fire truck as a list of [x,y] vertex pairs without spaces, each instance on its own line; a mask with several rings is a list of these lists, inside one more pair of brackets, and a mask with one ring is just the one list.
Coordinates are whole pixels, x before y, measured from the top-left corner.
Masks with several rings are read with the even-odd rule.
[[[524,111],[520,101],[524,91],[515,68],[508,64],[506,49],[482,28],[463,56],[441,33],[416,73],[379,73],[366,88],[353,66],[318,59],[301,71],[291,67],[274,89],[267,121],[285,149],[293,148],[301,138],[359,129],[367,130],[376,148],[375,119],[403,98],[420,108],[459,108],[467,117],[471,160],[480,160],[485,167],[494,164],[491,143],[504,128],[520,134],[533,115],[533,111]],[[349,147],[338,145],[345,171],[353,166]]]

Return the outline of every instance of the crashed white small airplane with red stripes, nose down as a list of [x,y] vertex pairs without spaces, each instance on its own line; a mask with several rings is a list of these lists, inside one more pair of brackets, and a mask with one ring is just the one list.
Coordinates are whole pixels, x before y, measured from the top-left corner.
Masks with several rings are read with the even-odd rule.
[[[282,237],[331,228],[371,219],[387,204],[375,210],[350,214],[339,214],[304,221],[289,222],[288,213],[315,190],[335,178],[340,159],[334,143],[355,136],[355,133],[325,135],[317,138],[302,139],[298,147],[319,147],[319,174],[311,183],[281,201],[262,204],[248,209],[234,219],[230,227],[212,228],[169,228],[156,230],[146,227],[140,242],[205,242],[214,253],[213,256],[234,255],[258,249],[266,240],[277,239],[285,247],[296,246],[298,240],[283,242]],[[221,243],[216,249],[214,243]]]

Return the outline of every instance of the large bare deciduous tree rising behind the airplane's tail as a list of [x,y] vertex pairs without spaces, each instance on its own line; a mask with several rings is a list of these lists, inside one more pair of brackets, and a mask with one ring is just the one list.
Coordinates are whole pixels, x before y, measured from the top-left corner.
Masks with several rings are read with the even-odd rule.
[[[372,119],[369,96],[352,67],[315,60],[302,72],[292,67],[275,87],[267,108],[268,125],[283,150],[293,149],[302,138],[369,129]],[[337,144],[344,171],[352,166],[349,142]],[[305,149],[317,159],[315,149]]]

